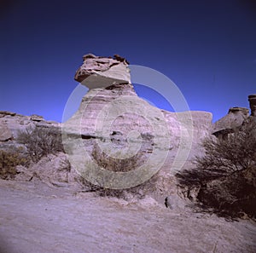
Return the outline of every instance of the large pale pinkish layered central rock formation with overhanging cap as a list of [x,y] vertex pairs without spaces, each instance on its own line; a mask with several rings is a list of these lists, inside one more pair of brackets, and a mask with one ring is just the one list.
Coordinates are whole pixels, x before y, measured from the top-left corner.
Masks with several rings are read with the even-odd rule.
[[[107,67],[97,68],[98,60],[102,59]],[[105,75],[109,65],[112,68],[120,64],[116,62],[117,65],[111,66],[112,60],[85,55],[83,66],[76,73],[78,81],[85,78],[83,82],[87,87],[88,79],[94,79],[78,112],[63,124],[63,141],[71,160],[78,163],[79,158],[84,158],[84,152],[96,161],[104,159],[106,154],[110,159],[119,160],[135,157],[139,164],[154,158],[154,170],[165,161],[166,165],[162,165],[167,172],[171,167],[179,170],[188,159],[202,152],[201,140],[212,130],[212,113],[162,111],[137,96],[130,78],[109,84],[101,75]],[[125,68],[108,78],[119,80],[119,75],[126,75],[126,61],[119,62]],[[102,152],[103,158],[95,157],[95,150]],[[80,164],[86,163],[83,159]]]

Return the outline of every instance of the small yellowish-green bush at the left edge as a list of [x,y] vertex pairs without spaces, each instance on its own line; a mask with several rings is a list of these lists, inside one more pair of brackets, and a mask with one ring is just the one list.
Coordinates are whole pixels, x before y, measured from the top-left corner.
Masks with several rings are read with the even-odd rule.
[[0,178],[13,179],[17,174],[17,165],[28,165],[28,159],[20,155],[17,150],[13,152],[0,151]]

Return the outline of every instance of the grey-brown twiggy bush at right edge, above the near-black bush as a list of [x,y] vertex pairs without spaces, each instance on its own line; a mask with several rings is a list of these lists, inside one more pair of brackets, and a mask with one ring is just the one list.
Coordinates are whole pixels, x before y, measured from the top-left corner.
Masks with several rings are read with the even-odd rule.
[[230,174],[246,170],[256,164],[256,124],[247,123],[224,139],[209,139],[203,142],[206,154],[196,158],[197,168],[208,173]]

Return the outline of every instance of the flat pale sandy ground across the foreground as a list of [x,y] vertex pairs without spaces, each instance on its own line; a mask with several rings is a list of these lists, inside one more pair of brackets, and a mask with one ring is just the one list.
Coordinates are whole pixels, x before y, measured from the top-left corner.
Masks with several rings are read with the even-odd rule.
[[1,253],[256,252],[253,221],[0,181]]

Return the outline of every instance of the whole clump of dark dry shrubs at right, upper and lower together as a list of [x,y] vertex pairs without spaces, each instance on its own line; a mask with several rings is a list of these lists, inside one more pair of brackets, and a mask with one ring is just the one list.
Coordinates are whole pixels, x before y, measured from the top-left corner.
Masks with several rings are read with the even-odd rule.
[[[247,122],[224,139],[207,138],[194,170],[177,174],[179,186],[219,215],[256,218],[256,124]],[[196,191],[195,191],[196,189]]]

